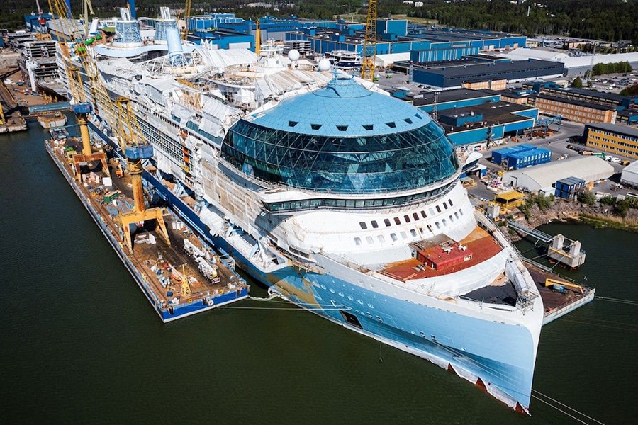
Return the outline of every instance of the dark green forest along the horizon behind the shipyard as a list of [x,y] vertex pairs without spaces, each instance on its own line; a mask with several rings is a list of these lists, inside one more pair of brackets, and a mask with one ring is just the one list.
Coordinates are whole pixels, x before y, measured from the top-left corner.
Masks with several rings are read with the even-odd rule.
[[[378,0],[378,16],[386,18],[403,13],[408,17],[435,20],[441,26],[474,30],[503,31],[531,37],[564,35],[617,42],[629,40],[638,45],[638,0],[422,0],[415,8],[401,0]],[[245,19],[257,16],[291,16],[332,19],[335,16],[364,16],[366,0],[288,0],[269,1],[272,7],[247,7],[251,1],[193,0],[191,14],[203,11],[230,11]],[[82,0],[72,0],[75,15]],[[126,0],[92,0],[96,16],[116,16],[117,8]],[[136,0],[138,16],[154,17],[159,6],[174,9],[184,7],[185,1]],[[47,12],[47,0],[40,0]],[[4,0],[0,12],[0,28],[15,30],[23,25],[23,14],[36,11],[35,0]]]

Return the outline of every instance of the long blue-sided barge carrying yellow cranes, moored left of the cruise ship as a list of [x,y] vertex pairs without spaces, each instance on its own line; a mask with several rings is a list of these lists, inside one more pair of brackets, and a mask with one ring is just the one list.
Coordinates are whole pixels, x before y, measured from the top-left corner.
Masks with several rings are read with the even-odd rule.
[[131,254],[123,244],[118,220],[119,214],[133,208],[130,179],[115,177],[111,181],[93,164],[94,171],[85,169],[79,183],[69,159],[81,146],[75,137],[45,142],[50,157],[163,322],[247,298],[248,285],[235,273],[228,254],[206,245],[170,210],[163,215],[170,244],[159,236],[153,223],[145,222],[132,232]]

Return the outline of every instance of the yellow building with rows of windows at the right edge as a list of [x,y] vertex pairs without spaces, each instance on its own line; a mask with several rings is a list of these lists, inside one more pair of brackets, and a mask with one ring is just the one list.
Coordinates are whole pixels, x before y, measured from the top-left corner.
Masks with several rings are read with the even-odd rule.
[[583,132],[587,147],[638,158],[638,129],[626,125],[588,124]]

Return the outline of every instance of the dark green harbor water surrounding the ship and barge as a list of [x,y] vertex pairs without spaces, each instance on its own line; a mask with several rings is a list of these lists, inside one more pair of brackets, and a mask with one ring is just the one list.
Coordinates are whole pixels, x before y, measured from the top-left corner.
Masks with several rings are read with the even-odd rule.
[[[284,302],[247,300],[162,324],[48,157],[45,131],[28,124],[0,135],[2,423],[627,424],[638,416],[638,234],[541,228],[583,242],[585,265],[561,273],[599,298],[542,330],[527,417],[432,363]],[[538,255],[530,242],[517,246]],[[251,293],[265,290],[253,282]]]

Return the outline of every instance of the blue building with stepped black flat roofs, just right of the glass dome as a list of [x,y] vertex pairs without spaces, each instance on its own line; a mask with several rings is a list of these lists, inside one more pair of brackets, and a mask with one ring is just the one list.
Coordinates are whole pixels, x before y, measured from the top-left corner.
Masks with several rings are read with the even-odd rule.
[[531,130],[539,112],[537,108],[502,101],[496,92],[480,90],[422,92],[413,96],[413,103],[435,115],[454,145],[469,149],[480,149]]

